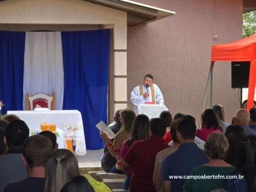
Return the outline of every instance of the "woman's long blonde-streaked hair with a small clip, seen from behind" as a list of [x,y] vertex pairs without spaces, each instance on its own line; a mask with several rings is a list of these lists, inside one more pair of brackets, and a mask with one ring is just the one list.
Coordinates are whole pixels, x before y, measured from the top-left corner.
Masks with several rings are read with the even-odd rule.
[[45,192],[60,192],[77,175],[80,173],[76,156],[65,148],[54,150],[46,165]]

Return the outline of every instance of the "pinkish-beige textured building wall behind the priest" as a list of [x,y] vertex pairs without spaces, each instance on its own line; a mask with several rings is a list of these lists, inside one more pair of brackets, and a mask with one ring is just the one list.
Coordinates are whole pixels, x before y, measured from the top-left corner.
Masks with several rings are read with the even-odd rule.
[[[243,1],[136,1],[176,14],[128,28],[127,97],[130,99],[132,88],[142,83],[145,74],[152,73],[171,113],[191,114],[199,122],[211,63],[211,45],[242,37]],[[216,39],[214,35],[218,35]],[[231,88],[230,62],[216,62],[213,79],[213,104],[222,104],[226,120],[231,122],[239,108],[239,92]],[[128,106],[133,108],[131,102]]]

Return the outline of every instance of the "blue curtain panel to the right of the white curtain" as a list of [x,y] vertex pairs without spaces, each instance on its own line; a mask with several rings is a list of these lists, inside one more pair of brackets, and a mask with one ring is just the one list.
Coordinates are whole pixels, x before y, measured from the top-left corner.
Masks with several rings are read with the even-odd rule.
[[64,68],[63,109],[82,113],[86,148],[102,148],[95,125],[107,122],[110,31],[61,32]]

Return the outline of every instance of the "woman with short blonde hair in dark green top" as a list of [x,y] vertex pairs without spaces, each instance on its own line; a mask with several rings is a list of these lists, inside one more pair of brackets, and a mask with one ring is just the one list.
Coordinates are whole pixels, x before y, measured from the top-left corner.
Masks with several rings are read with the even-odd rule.
[[[209,134],[205,143],[204,152],[210,161],[191,170],[189,179],[186,180],[183,186],[184,191],[210,192],[214,189],[222,189],[225,175],[235,170],[234,166],[225,162],[228,148],[228,140],[225,134],[220,132]],[[193,177],[191,177],[192,175]],[[195,177],[198,179],[193,179]]]

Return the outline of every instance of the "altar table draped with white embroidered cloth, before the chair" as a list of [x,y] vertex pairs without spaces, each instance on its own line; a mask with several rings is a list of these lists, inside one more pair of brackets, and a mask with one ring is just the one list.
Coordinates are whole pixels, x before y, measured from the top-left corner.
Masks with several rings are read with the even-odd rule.
[[[29,134],[40,131],[43,123],[56,124],[57,141],[59,148],[66,148],[64,140],[76,141],[76,154],[84,156],[86,146],[84,140],[83,120],[81,113],[77,110],[53,110],[53,111],[7,111],[7,114],[15,114],[24,120],[29,127]],[[61,144],[61,142],[63,142]]]

